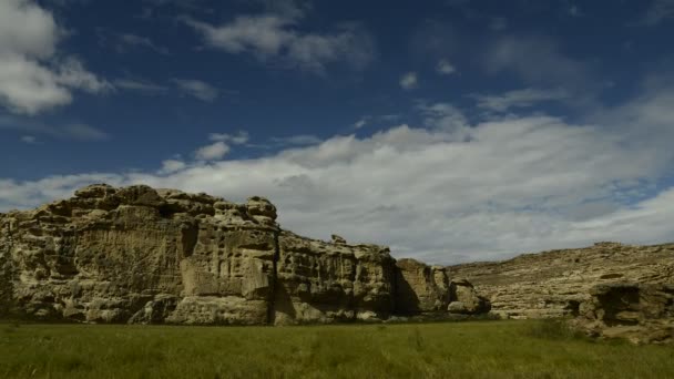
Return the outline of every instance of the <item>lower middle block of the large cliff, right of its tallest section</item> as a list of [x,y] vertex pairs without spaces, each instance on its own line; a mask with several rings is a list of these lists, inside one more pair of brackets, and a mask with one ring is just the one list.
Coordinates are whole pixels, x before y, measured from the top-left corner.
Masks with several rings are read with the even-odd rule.
[[328,244],[283,232],[276,324],[387,318],[395,260],[377,245]]

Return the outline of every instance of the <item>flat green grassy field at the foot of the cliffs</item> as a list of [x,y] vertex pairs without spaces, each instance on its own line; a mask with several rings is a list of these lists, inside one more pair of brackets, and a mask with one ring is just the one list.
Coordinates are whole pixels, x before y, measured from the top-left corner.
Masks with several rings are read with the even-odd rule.
[[0,378],[674,378],[674,347],[593,342],[541,321],[0,324]]

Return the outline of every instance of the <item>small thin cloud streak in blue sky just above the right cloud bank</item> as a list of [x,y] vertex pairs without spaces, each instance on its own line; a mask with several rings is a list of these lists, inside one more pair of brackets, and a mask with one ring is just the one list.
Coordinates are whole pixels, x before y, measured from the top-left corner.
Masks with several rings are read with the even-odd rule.
[[494,112],[504,112],[511,107],[529,107],[537,103],[561,101],[569,99],[569,93],[562,89],[538,90],[522,89],[508,91],[499,95],[473,95],[478,107]]

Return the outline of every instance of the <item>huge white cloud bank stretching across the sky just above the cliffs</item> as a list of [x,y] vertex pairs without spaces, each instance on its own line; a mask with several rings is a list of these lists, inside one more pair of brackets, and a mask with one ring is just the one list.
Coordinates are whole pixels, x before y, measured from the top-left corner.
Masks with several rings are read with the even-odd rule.
[[650,89],[582,124],[543,115],[469,124],[450,104],[421,104],[426,129],[334,136],[259,158],[213,161],[221,147],[168,174],[0,180],[0,208],[65,197],[89,183],[146,183],[235,201],[264,195],[285,228],[388,244],[398,257],[430,263],[606,239],[663,243],[674,235],[674,188],[652,185],[674,162],[673,99],[674,89]]

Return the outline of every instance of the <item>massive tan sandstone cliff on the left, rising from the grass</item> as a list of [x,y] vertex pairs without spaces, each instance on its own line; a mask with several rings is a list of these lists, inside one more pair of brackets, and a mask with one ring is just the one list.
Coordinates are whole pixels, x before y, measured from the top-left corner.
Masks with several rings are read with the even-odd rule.
[[101,184],[0,214],[4,317],[277,325],[488,309],[443,267],[283,231],[262,197]]

